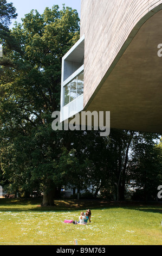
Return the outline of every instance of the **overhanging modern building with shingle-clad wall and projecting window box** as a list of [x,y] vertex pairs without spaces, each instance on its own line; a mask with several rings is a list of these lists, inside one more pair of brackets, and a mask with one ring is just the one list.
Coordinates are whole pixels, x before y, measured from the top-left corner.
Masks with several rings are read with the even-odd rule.
[[80,40],[62,59],[61,121],[110,111],[112,128],[161,133],[161,48],[162,0],[81,0]]

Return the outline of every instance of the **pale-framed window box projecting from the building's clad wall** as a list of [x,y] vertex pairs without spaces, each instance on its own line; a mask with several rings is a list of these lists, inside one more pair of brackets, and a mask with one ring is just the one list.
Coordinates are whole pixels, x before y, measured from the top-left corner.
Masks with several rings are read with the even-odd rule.
[[85,37],[62,58],[61,122],[83,109]]

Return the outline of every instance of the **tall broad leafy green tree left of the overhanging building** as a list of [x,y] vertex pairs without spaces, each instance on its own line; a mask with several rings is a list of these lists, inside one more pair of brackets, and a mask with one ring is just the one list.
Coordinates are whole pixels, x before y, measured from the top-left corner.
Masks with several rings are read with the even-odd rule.
[[4,43],[0,60],[2,171],[12,184],[24,174],[16,183],[21,189],[42,184],[43,204],[52,205],[60,186],[56,162],[67,136],[51,130],[51,113],[60,109],[61,60],[79,39],[79,17],[54,5],[42,15],[31,10],[22,21],[11,31],[17,47]]

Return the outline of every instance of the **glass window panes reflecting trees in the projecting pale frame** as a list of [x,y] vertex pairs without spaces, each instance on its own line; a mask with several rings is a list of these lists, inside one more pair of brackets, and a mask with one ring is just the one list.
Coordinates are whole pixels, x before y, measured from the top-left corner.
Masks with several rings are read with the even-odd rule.
[[64,106],[83,94],[84,72],[64,86]]

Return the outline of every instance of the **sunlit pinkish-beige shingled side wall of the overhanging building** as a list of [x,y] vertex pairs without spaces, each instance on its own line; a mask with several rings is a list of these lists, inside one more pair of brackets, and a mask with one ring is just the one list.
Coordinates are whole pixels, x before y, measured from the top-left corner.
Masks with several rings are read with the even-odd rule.
[[161,3],[162,0],[81,0],[81,36],[85,34],[84,106],[132,29]]

